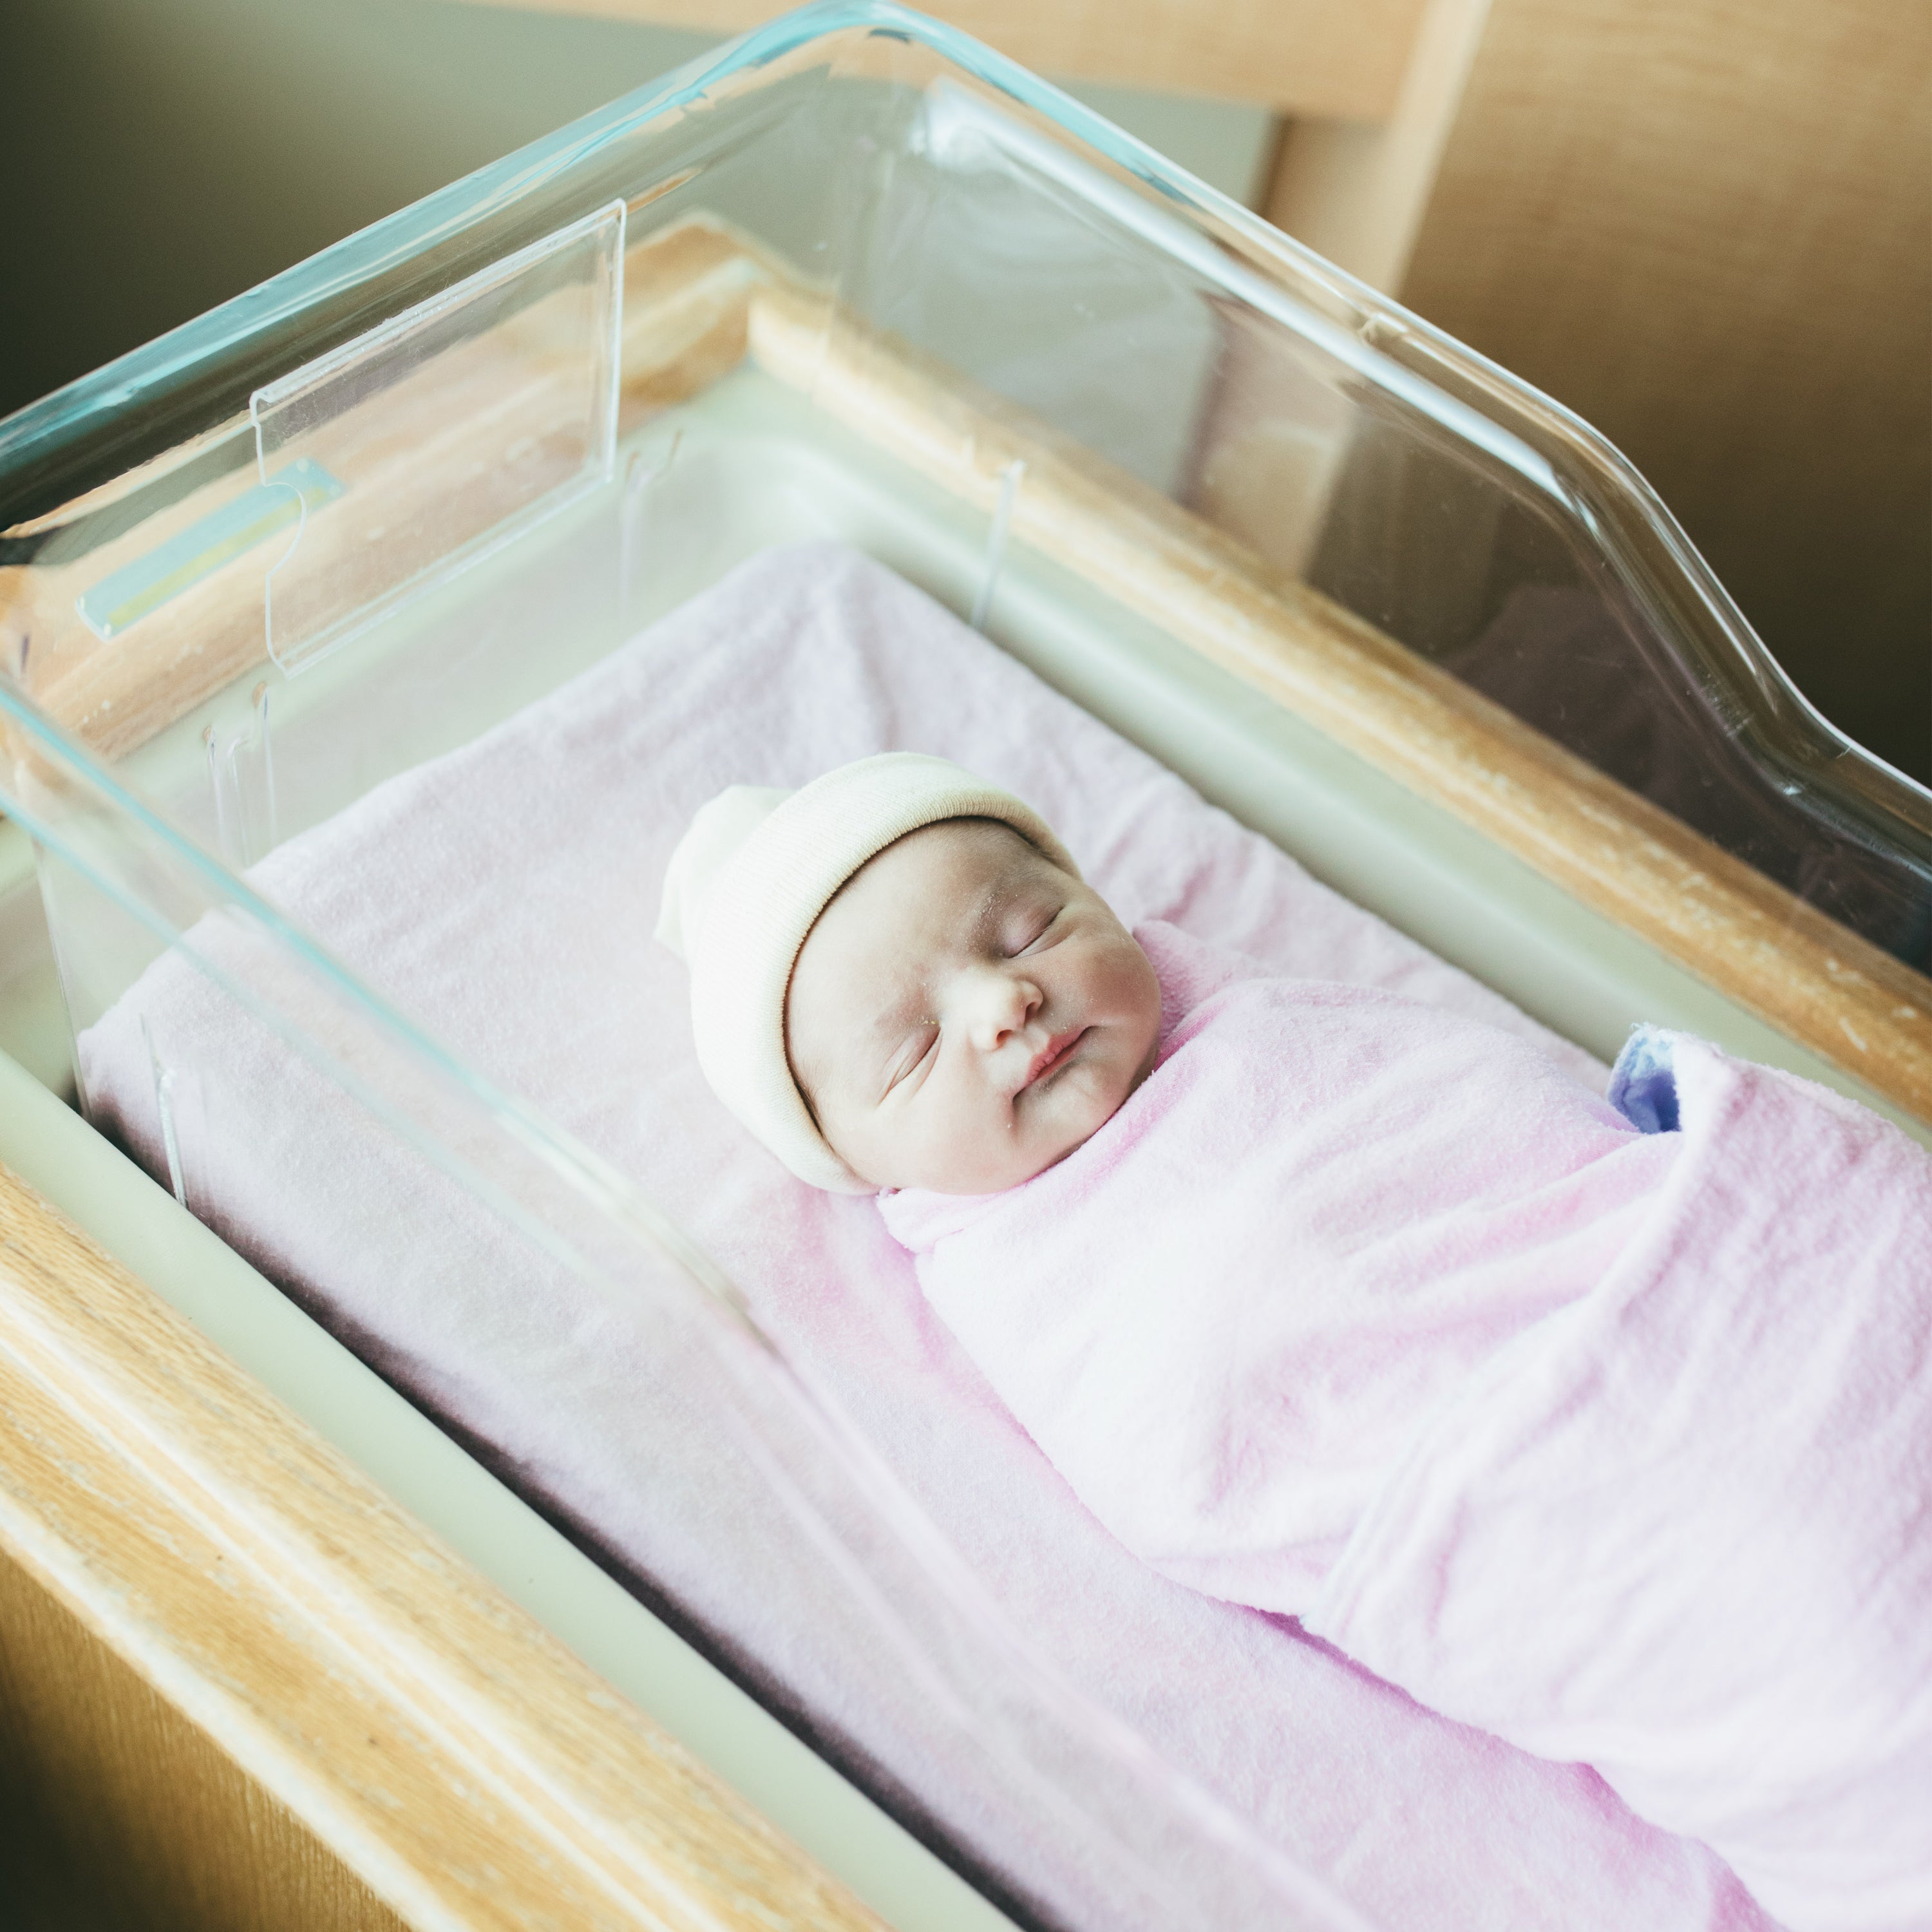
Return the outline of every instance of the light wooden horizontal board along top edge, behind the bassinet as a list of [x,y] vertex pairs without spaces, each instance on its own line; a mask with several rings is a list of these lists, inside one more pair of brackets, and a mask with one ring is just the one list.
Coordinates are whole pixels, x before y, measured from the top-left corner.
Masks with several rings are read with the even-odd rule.
[[[497,0],[554,14],[742,33],[788,0]],[[1262,102],[1283,112],[1381,120],[1408,68],[1426,0],[925,0],[960,27],[1057,79]]]

